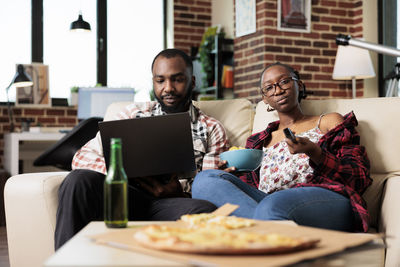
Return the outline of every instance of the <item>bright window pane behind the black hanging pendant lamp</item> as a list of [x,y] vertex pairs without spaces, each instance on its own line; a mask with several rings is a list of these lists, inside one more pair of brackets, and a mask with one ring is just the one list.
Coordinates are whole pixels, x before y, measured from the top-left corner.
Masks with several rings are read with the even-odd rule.
[[[69,30],[79,11],[91,32]],[[96,0],[43,0],[43,63],[49,65],[51,97],[69,97],[73,86],[96,85]]]

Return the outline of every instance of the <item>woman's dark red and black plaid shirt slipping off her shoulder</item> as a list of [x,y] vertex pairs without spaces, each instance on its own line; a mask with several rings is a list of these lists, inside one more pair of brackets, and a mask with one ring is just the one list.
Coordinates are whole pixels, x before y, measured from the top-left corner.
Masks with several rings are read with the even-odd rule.
[[[322,148],[321,163],[316,165],[310,160],[314,169],[307,177],[306,183],[293,187],[323,187],[350,199],[355,213],[357,231],[367,231],[369,214],[367,205],[361,195],[372,179],[369,176],[369,159],[366,150],[360,145],[360,136],[355,129],[358,125],[353,112],[344,116],[344,121],[327,132],[318,142]],[[253,134],[247,139],[246,148],[262,149],[264,141],[270,138],[271,132],[278,129],[279,121],[271,122],[267,129]],[[258,188],[260,169],[246,173],[240,179]]]

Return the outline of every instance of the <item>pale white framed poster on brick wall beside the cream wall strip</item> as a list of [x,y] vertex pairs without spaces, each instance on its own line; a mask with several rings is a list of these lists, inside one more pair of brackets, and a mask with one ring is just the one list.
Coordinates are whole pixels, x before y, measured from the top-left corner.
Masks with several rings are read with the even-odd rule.
[[256,0],[236,0],[236,37],[256,32]]

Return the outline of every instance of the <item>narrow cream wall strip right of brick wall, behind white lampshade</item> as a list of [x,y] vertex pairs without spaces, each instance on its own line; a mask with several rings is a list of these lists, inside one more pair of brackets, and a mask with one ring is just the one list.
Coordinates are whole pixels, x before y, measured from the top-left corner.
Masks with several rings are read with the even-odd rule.
[[[378,0],[363,1],[363,37],[366,42],[378,43]],[[364,80],[364,97],[378,97],[378,54],[369,51],[374,65],[375,77]]]

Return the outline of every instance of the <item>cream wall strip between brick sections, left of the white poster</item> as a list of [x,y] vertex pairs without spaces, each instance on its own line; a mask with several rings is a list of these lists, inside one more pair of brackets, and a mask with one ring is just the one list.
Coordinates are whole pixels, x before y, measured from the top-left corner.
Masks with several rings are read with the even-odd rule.
[[227,38],[234,37],[233,31],[233,9],[234,0],[212,0],[211,2],[211,25],[221,24]]

